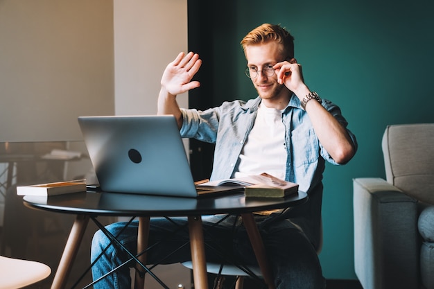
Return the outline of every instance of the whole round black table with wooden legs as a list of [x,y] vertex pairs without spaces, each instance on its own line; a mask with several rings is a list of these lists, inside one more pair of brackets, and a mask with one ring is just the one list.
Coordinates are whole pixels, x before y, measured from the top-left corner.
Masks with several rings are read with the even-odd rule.
[[[138,252],[147,247],[150,217],[188,217],[193,261],[193,281],[196,288],[207,288],[205,245],[203,243],[202,219],[200,216],[219,213],[239,214],[242,216],[250,242],[257,256],[259,267],[263,272],[263,278],[269,288],[274,288],[270,266],[268,266],[261,236],[259,235],[259,230],[254,222],[252,213],[294,207],[306,202],[308,196],[304,192],[298,192],[285,198],[245,198],[245,195],[241,191],[216,197],[176,198],[157,195],[96,193],[88,191],[51,197],[26,195],[23,200],[26,207],[33,209],[76,215],[76,220],[71,228],[71,233],[69,234],[51,288],[64,288],[89,218],[92,217],[92,220],[94,220],[96,216],[139,217]],[[137,262],[142,268],[144,268],[143,264],[146,264],[146,254],[144,255],[137,258]],[[144,269],[148,271],[147,268]],[[139,277],[139,274],[136,274],[136,282],[134,284],[135,288],[143,288],[144,279]]]

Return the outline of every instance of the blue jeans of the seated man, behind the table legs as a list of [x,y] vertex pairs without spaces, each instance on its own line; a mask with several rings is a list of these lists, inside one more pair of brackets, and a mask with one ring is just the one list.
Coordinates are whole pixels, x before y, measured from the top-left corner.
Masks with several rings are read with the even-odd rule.
[[[245,228],[240,218],[230,216],[223,222],[215,225],[223,216],[203,216],[205,255],[207,261],[221,262],[221,257],[216,254],[214,248],[224,252],[227,257],[234,258],[246,265],[257,264],[254,252],[250,245]],[[266,247],[266,253],[272,265],[275,285],[277,289],[323,289],[325,281],[322,277],[320,262],[315,248],[300,229],[288,219],[278,220],[272,216],[257,216],[257,224]],[[173,222],[166,218],[151,218],[149,246],[156,243],[147,255],[148,264],[179,263],[191,260],[190,246],[188,243],[189,232],[186,218],[173,218]],[[138,222],[132,222],[123,231],[124,222],[108,225],[106,228],[131,252],[137,252],[137,227]],[[181,227],[179,227],[181,226]],[[176,231],[173,236],[173,231]],[[94,280],[116,268],[119,264],[130,259],[123,250],[110,245],[110,240],[101,230],[96,231],[92,240],[91,261],[102,254],[92,267]],[[185,245],[186,244],[186,245]],[[184,245],[184,246],[183,246]],[[208,246],[209,245],[209,246]],[[179,249],[179,247],[181,247]],[[177,249],[177,250],[176,250]],[[168,252],[175,253],[166,257]],[[103,253],[102,253],[103,252]],[[131,262],[128,265],[133,266]],[[115,288],[130,289],[130,269],[125,265],[98,283],[95,289]]]

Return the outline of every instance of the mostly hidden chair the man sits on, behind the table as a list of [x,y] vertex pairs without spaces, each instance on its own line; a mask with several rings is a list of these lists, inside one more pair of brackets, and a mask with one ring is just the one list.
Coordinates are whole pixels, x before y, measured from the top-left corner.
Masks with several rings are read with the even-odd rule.
[[[317,249],[317,254],[320,254],[322,250],[322,223],[321,223],[321,233],[320,233],[320,245]],[[182,265],[184,267],[193,269],[193,263],[191,261],[183,262]],[[242,269],[241,269],[242,268]],[[223,288],[223,282],[224,282],[224,276],[232,276],[236,277],[235,281],[235,288],[234,289],[243,289],[244,285],[244,278],[250,277],[250,274],[248,272],[253,273],[257,277],[262,277],[261,270],[259,269],[259,266],[246,266],[246,265],[232,265],[232,264],[220,264],[220,263],[211,263],[207,262],[207,272],[209,274],[216,274],[216,281],[214,281],[214,288],[215,289],[222,289]]]

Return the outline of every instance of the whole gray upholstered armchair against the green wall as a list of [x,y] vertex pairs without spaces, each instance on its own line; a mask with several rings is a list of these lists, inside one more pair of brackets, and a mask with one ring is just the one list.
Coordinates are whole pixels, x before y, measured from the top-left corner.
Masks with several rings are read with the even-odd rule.
[[354,268],[364,289],[434,289],[434,123],[390,125],[386,179],[356,178]]

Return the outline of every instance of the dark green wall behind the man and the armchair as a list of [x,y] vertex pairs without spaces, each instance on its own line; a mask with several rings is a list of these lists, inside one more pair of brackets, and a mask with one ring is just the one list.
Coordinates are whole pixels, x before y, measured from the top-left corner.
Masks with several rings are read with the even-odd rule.
[[434,1],[208,3],[209,8],[189,0],[189,46],[204,61],[199,76],[204,85],[191,94],[192,105],[199,97],[202,105],[218,105],[256,96],[243,75],[239,42],[264,22],[279,23],[295,36],[295,58],[306,83],[340,105],[356,134],[354,159],[329,165],[324,173],[320,254],[326,278],[356,279],[351,179],[384,177],[386,125],[434,122]]

